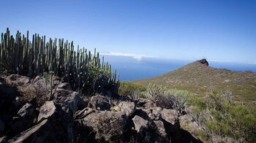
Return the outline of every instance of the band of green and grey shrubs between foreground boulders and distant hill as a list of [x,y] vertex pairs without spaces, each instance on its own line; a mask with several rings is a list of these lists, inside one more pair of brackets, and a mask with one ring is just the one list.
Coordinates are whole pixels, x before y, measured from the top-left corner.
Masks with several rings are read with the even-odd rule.
[[202,98],[187,90],[168,89],[154,83],[148,84],[145,91],[145,86],[131,82],[121,84],[120,90],[122,93],[138,90],[138,95],[151,99],[158,107],[176,109],[178,115],[192,115],[203,128],[198,129],[197,136],[205,141],[214,142],[218,136],[236,142],[256,141],[255,104],[234,101],[230,91],[211,90]]

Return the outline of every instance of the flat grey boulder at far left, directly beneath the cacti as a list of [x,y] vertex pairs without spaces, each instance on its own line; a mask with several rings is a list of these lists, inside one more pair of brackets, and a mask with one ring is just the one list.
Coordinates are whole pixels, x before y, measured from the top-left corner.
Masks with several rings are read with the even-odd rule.
[[21,76],[18,74],[11,74],[7,77],[6,80],[12,85],[26,85],[30,82],[29,77]]

